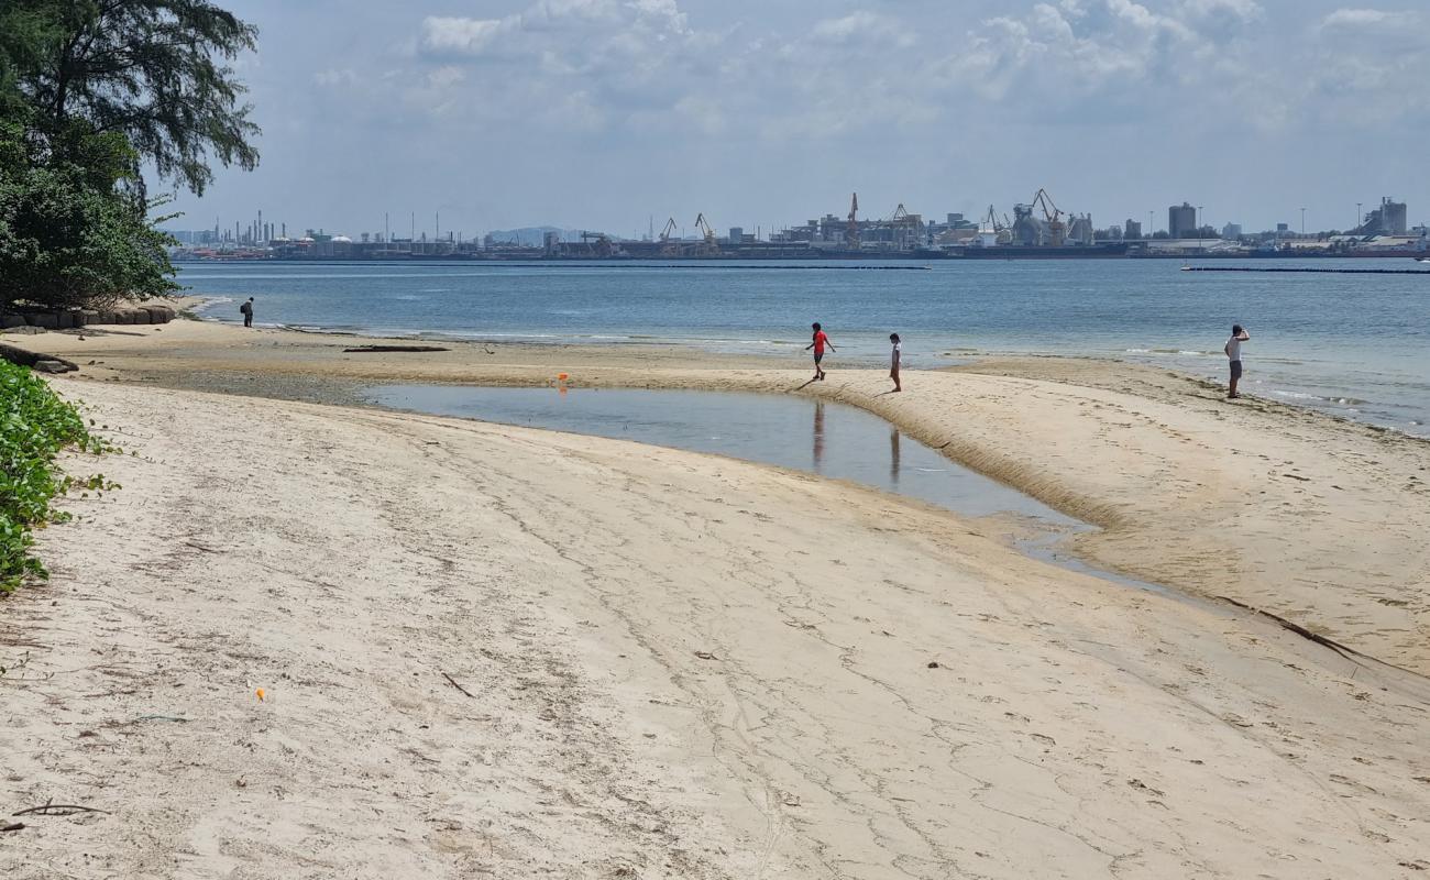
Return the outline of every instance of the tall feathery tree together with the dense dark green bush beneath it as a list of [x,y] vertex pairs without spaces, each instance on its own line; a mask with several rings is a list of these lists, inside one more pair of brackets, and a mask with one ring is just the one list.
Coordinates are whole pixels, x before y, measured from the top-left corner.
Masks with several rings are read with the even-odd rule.
[[142,169],[202,195],[256,166],[256,36],[206,0],[0,0],[0,308],[176,289]]

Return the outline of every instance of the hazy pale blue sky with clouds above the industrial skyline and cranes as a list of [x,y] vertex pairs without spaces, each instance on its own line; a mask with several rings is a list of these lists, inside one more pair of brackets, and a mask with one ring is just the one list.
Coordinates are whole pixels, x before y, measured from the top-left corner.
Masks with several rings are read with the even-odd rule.
[[977,215],[1430,219],[1424,0],[230,0],[263,153],[174,226],[644,233]]

